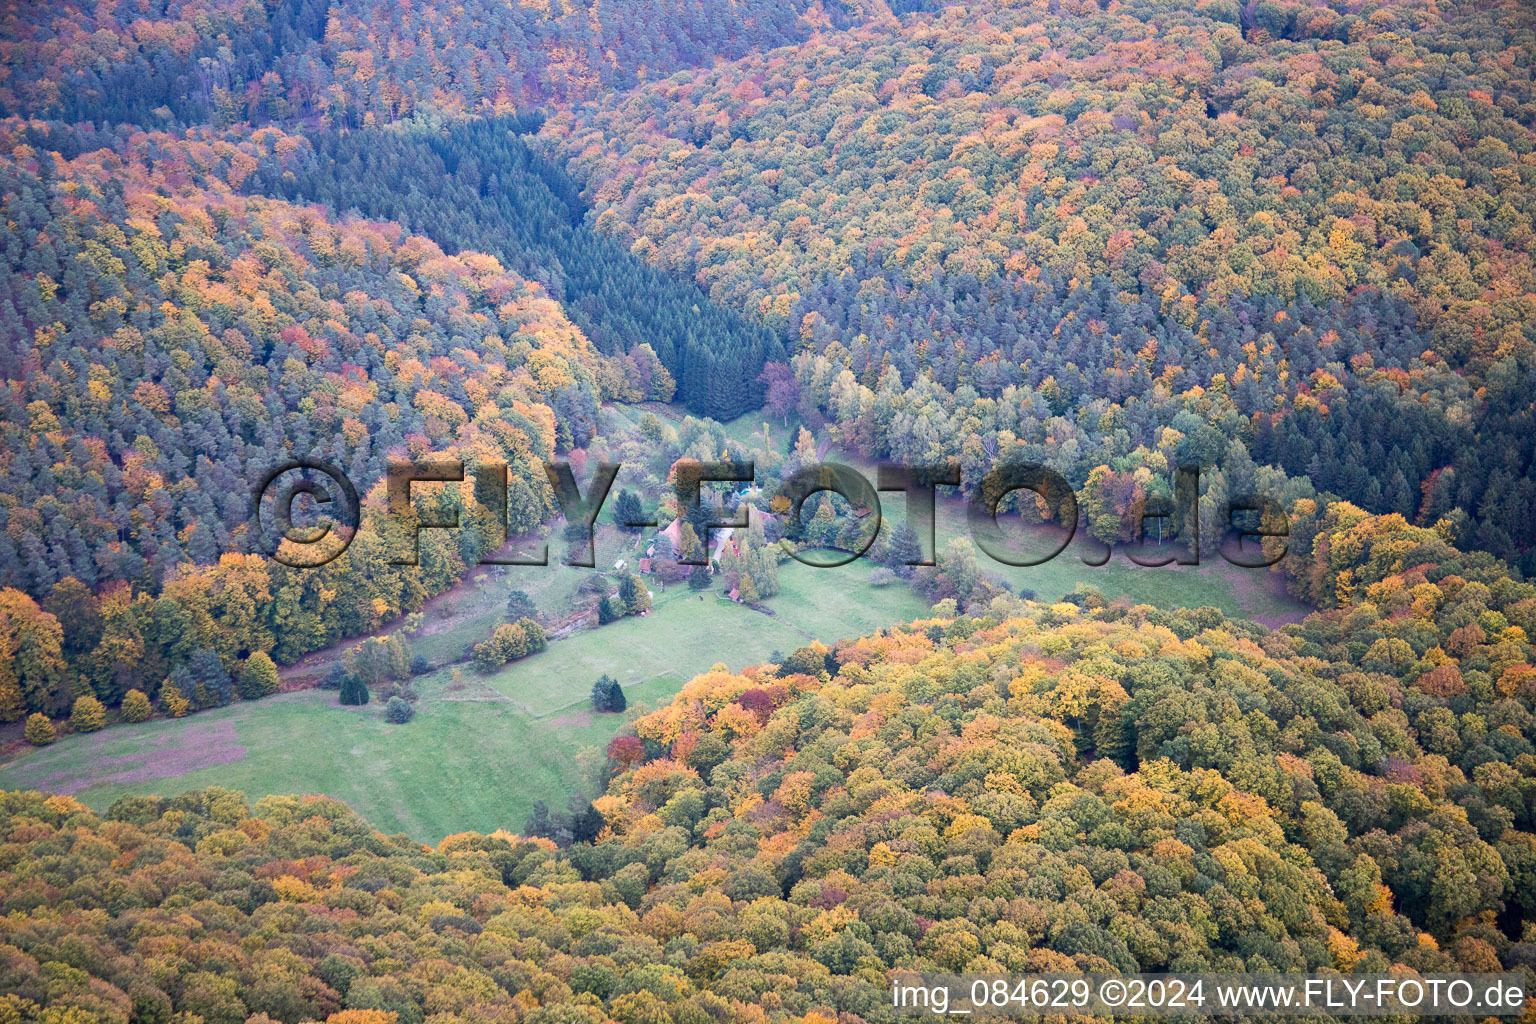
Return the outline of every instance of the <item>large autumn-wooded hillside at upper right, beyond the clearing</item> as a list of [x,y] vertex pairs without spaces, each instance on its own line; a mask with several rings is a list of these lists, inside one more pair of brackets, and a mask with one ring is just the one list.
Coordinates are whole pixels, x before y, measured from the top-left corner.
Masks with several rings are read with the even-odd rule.
[[871,454],[1021,439],[1130,494],[1166,488],[1169,430],[1224,471],[1236,441],[1531,568],[1533,28],[1513,2],[948,6],[541,137],[601,230],[783,324],[782,407]]

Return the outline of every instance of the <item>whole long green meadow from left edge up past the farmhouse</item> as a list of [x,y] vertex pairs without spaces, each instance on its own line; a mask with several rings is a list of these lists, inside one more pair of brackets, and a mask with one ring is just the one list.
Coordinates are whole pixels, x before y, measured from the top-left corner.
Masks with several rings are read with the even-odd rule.
[[[533,570],[581,576],[567,567]],[[770,602],[777,614],[674,586],[648,616],[556,640],[493,676],[465,668],[458,686],[452,669],[424,676],[416,680],[416,718],[404,726],[387,725],[379,702],[341,708],[332,692],[303,691],[69,735],[0,766],[0,788],[71,792],[94,808],[123,794],[201,786],[243,789],[252,798],[327,792],[381,829],[429,841],[464,829],[516,829],[535,800],[564,806],[567,794],[582,789],[582,751],[604,746],[624,722],[591,711],[598,676],[619,679],[639,714],[717,662],[739,669],[813,637],[831,642],[926,609],[902,586],[849,585],[866,574],[839,577],[799,563],[780,573],[783,593]],[[429,622],[413,648],[441,643],[449,651],[479,640],[499,620],[511,582],[476,585],[461,597],[473,602],[473,614],[436,640]]]

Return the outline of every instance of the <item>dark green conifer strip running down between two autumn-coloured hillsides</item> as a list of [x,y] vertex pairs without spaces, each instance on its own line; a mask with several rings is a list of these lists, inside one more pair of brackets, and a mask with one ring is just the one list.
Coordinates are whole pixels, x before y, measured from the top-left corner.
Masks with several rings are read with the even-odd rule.
[[[647,381],[645,398],[676,398],[716,419],[760,407],[763,364],[785,358],[774,332],[585,224],[578,187],[518,137],[536,127],[492,118],[421,134],[316,134],[309,146],[264,161],[243,187],[323,201],[398,221],[442,246],[495,253],[544,284],[601,352],[659,358],[676,395]],[[435,184],[401,190],[401,181]]]

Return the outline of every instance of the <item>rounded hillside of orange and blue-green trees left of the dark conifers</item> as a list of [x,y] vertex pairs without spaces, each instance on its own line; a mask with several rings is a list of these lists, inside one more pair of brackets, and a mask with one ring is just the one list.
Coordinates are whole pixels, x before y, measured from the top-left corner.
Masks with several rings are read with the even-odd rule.
[[[230,671],[255,651],[290,662],[419,608],[499,543],[429,534],[409,568],[366,528],[323,570],[290,570],[255,554],[250,527],[252,481],[281,457],[329,459],[359,488],[387,454],[496,457],[525,533],[556,508],[544,462],[630,393],[630,365],[496,258],[235,193],[281,132],[74,160],[38,141],[12,123],[0,143],[0,689],[25,709],[154,695],[200,649]],[[80,588],[108,596],[101,614]],[[14,697],[0,718],[23,714]]]

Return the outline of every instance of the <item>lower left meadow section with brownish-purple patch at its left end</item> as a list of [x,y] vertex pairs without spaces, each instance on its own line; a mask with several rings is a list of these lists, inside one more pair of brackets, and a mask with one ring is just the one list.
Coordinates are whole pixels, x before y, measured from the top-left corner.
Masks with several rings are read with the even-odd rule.
[[387,725],[378,702],[343,708],[303,691],[184,720],[72,735],[0,769],[6,789],[74,792],[94,808],[124,794],[203,786],[326,792],[384,831],[435,841],[464,829],[516,829],[535,798],[581,785],[578,752],[605,743],[616,718],[587,709],[538,720],[482,686],[449,694],[422,682],[416,718]]

